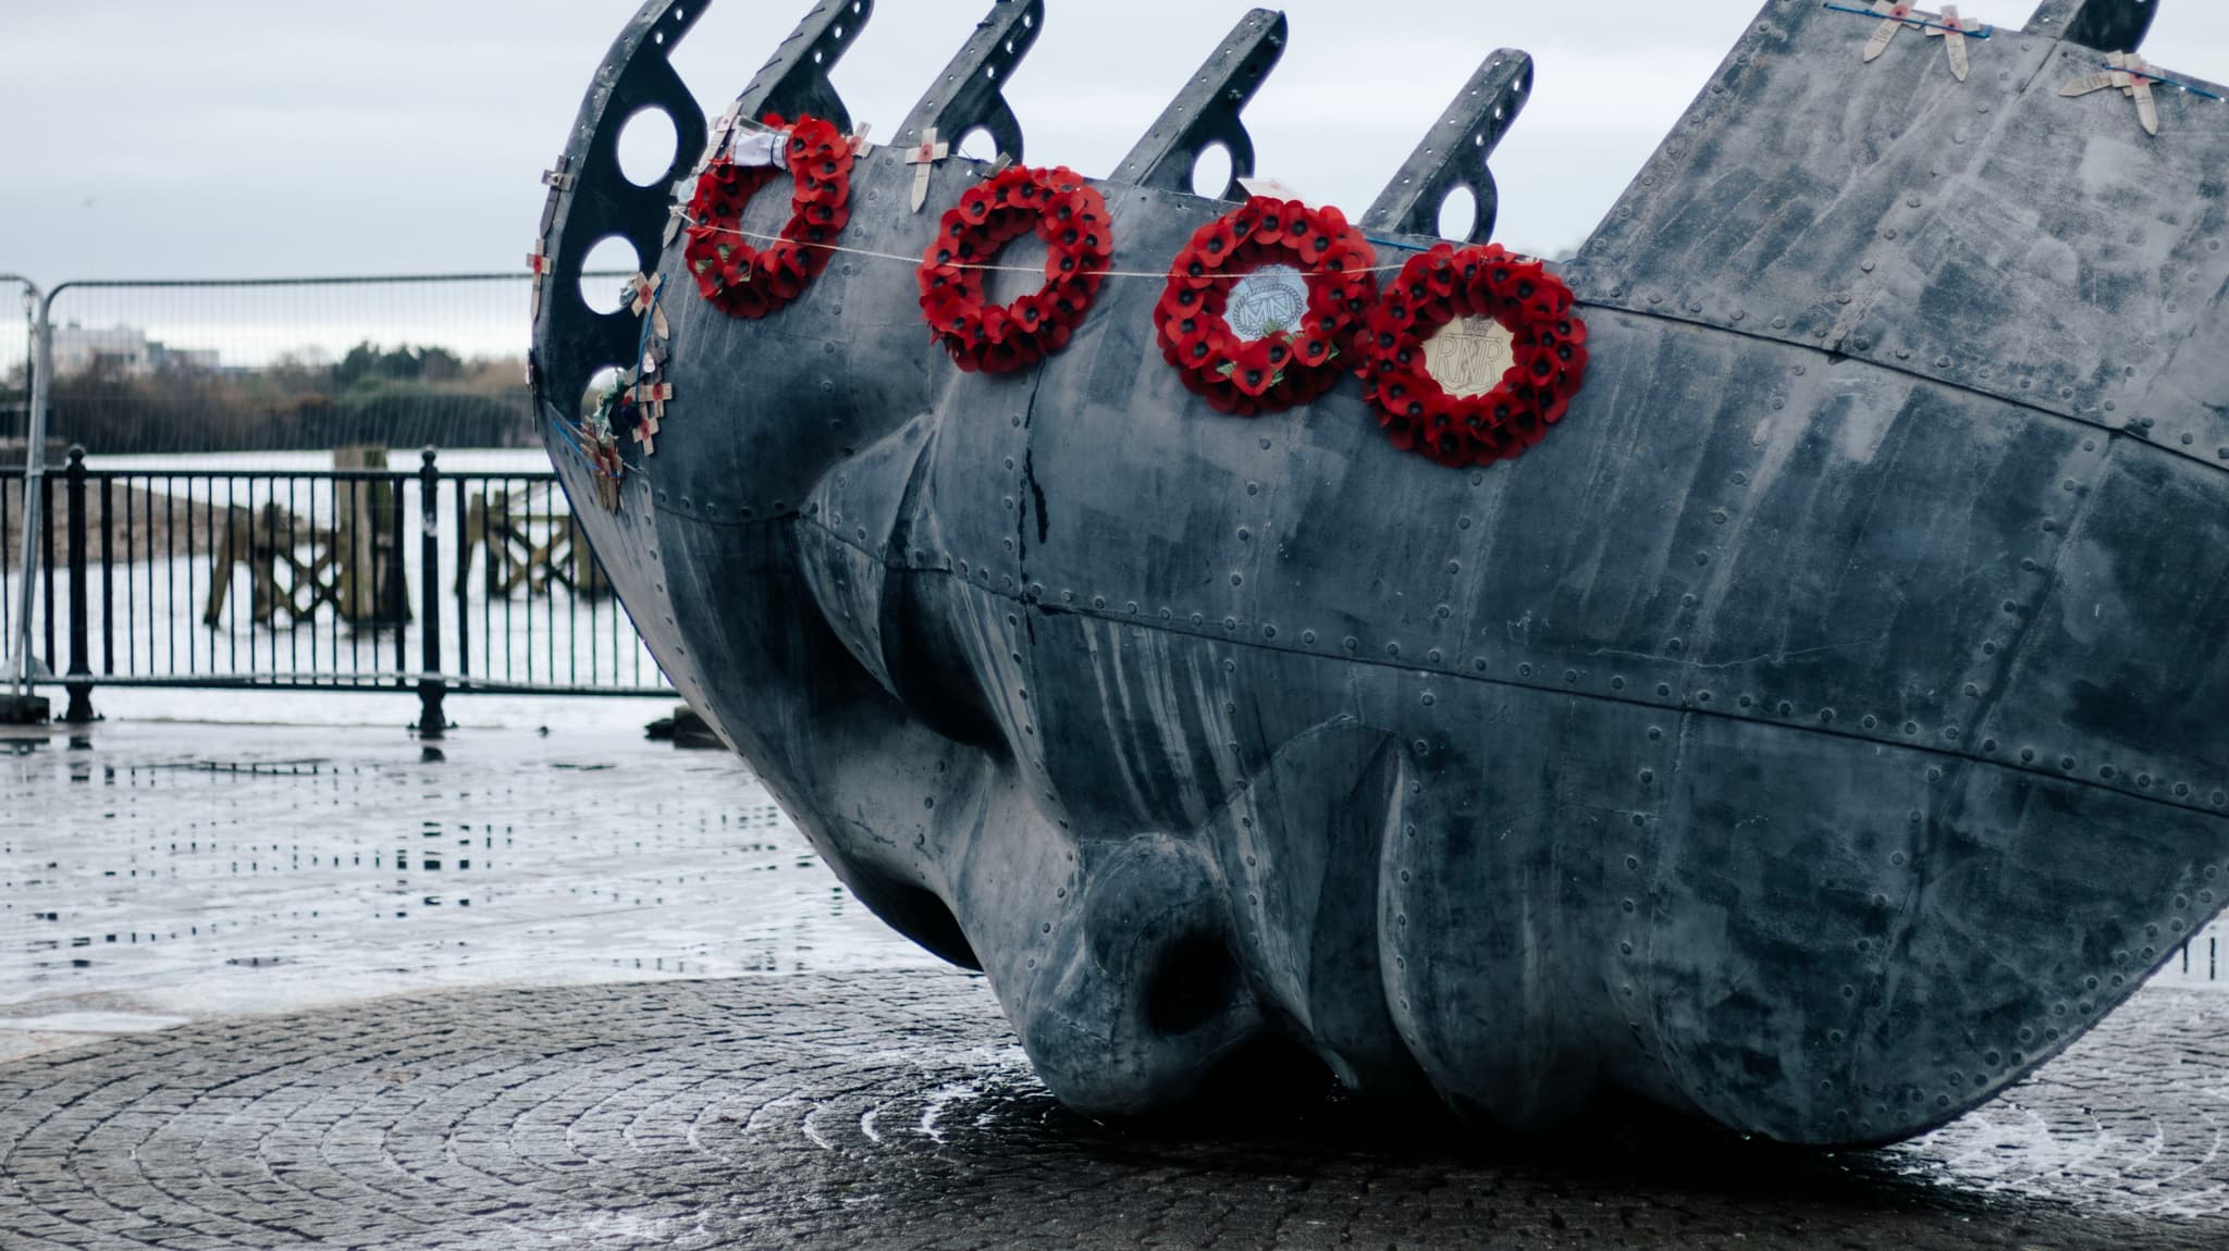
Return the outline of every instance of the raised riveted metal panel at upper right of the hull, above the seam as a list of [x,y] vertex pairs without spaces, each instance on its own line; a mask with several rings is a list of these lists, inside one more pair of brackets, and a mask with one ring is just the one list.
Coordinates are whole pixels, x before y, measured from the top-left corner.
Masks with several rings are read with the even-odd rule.
[[[1574,265],[1587,298],[1808,343],[2220,459],[2229,107],[2066,98],[2104,53],[1941,40],[1781,0]],[[2189,80],[2207,87],[2200,80]],[[2218,89],[2216,89],[2218,91]],[[2189,439],[2184,439],[2189,436]]]

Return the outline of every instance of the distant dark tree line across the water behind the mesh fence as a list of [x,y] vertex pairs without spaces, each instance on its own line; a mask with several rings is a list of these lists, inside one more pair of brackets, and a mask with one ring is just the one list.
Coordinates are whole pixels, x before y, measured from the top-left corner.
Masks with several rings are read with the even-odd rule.
[[281,356],[261,370],[127,374],[96,365],[53,381],[49,430],[118,456],[535,441],[524,363],[374,343],[339,361]]

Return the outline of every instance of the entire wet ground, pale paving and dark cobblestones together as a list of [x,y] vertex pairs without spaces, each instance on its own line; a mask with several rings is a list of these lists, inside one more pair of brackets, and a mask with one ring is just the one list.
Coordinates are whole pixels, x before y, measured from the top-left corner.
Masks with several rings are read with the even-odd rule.
[[9,1251],[2229,1247],[2213,946],[1892,1151],[1101,1126],[740,766],[611,723],[18,743],[0,942]]

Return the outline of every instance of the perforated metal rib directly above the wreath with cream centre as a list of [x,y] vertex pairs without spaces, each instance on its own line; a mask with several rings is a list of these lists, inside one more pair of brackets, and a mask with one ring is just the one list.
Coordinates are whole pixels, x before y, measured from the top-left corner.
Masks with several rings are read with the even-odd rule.
[[1424,142],[1400,167],[1393,183],[1378,196],[1371,211],[1362,214],[1362,229],[1440,234],[1440,205],[1456,187],[1469,187],[1478,200],[1478,220],[1471,223],[1471,236],[1464,243],[1493,238],[1500,191],[1493,187],[1487,158],[1516,125],[1529,96],[1531,56],[1509,47],[1489,56],[1478,73],[1462,85],[1462,93],[1431,127]]

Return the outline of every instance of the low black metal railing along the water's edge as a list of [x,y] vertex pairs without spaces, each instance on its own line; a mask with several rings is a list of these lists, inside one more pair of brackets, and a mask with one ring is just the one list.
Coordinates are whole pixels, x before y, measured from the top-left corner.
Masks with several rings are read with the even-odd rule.
[[[415,690],[421,730],[448,695],[671,697],[555,474],[359,461],[94,467],[71,447],[31,570],[65,719],[103,686]],[[0,479],[9,585],[20,492]]]

